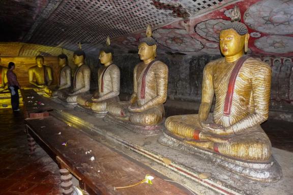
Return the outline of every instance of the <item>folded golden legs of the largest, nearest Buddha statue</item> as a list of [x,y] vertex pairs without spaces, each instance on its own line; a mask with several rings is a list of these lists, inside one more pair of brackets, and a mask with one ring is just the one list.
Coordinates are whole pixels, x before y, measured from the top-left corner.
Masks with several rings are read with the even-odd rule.
[[197,114],[168,117],[165,125],[173,135],[189,138],[187,143],[226,156],[244,160],[267,160],[271,156],[271,142],[259,125],[247,128],[241,134],[228,136],[203,131]]

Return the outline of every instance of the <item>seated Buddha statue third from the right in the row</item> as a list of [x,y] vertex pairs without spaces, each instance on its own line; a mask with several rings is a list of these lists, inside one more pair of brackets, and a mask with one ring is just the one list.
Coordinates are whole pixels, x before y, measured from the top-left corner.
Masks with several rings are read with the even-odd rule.
[[102,66],[98,70],[98,90],[94,95],[79,95],[77,103],[87,109],[92,109],[96,116],[103,117],[107,113],[107,104],[119,101],[120,70],[113,64],[113,49],[110,47],[110,38],[106,46],[100,50],[99,59]]

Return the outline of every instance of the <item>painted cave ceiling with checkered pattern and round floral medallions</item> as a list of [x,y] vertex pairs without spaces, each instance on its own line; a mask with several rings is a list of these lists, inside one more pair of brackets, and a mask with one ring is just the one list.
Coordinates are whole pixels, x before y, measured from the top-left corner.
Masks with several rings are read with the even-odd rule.
[[235,4],[249,29],[249,52],[293,56],[293,0],[1,0],[0,44],[32,46],[24,52],[15,43],[15,51],[2,47],[0,55],[57,55],[51,47],[76,50],[79,41],[97,55],[107,36],[115,53],[135,53],[147,24],[158,52],[216,55]]

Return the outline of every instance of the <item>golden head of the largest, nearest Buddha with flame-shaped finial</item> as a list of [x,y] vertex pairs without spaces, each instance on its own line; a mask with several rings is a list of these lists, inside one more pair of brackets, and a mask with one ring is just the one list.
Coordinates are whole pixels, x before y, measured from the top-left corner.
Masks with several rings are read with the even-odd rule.
[[249,34],[245,24],[240,21],[240,10],[235,6],[231,23],[220,31],[220,50],[225,57],[242,56],[248,50]]

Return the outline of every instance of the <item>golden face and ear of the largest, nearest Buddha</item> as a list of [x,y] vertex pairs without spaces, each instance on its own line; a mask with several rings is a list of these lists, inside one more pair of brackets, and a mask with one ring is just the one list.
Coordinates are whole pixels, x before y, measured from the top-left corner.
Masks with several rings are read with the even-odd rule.
[[233,29],[222,30],[220,32],[220,50],[226,57],[242,53],[248,39],[249,34],[239,35]]

